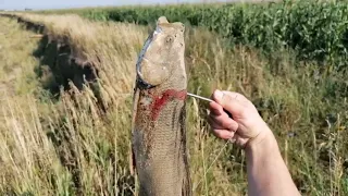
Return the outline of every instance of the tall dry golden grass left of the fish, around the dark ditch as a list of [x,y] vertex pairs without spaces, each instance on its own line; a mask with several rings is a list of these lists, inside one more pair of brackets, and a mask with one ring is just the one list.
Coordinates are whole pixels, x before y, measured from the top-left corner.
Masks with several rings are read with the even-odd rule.
[[[37,19],[35,15],[27,17]],[[128,159],[124,156],[129,152],[126,138],[129,137],[133,65],[146,38],[144,28],[111,23],[90,24],[77,16],[49,16],[41,22],[48,26],[51,39],[67,37],[73,56],[98,66],[99,93],[105,103],[113,103],[113,108],[101,117],[97,98],[87,86],[83,91],[72,87],[70,93],[62,93],[54,105],[45,97],[35,100],[29,93],[27,101],[3,97],[4,102],[8,101],[2,107],[7,124],[0,140],[3,146],[2,167],[7,172],[1,177],[1,192],[34,195],[132,192],[133,176],[129,176]],[[16,30],[24,32],[20,27]],[[30,54],[34,50],[29,48],[26,52]],[[8,58],[9,61],[14,59]],[[22,64],[25,66],[27,63]],[[45,68],[45,64],[40,66]],[[34,66],[30,68],[34,72]],[[73,97],[70,96],[72,94]],[[121,105],[125,99],[128,103]],[[37,101],[40,106],[35,103]],[[120,113],[123,117],[117,118]],[[13,130],[17,134],[13,134]],[[18,164],[24,160],[27,164]],[[129,185],[123,185],[123,181]],[[117,183],[120,188],[115,186]]]

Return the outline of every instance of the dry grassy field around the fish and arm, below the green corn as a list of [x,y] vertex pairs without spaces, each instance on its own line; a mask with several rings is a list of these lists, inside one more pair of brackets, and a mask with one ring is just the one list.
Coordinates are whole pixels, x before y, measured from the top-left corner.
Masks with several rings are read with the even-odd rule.
[[[15,20],[0,17],[5,26],[0,56],[7,60],[0,66],[10,68],[0,73],[7,81],[0,88],[12,91],[2,94],[11,96],[1,97],[0,105],[1,195],[134,195],[132,89],[148,27],[77,15],[23,17],[45,24],[49,36],[29,38],[34,34]],[[221,88],[246,95],[275,133],[303,195],[348,194],[345,72],[321,74],[322,64],[300,60],[286,47],[265,54],[258,47],[226,46],[226,39],[203,27],[188,27],[185,39],[189,91],[209,96]],[[77,57],[74,65],[95,68],[99,78],[85,83],[78,68],[61,66],[63,56]],[[9,79],[9,73],[21,79]],[[206,117],[207,105],[189,99],[194,193],[245,195],[244,152],[212,136]]]

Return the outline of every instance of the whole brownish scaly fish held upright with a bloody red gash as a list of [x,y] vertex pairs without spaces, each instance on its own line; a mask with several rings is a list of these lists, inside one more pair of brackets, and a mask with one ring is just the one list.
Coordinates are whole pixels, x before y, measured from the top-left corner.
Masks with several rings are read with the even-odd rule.
[[190,196],[186,136],[185,25],[165,16],[136,63],[132,151],[140,196]]

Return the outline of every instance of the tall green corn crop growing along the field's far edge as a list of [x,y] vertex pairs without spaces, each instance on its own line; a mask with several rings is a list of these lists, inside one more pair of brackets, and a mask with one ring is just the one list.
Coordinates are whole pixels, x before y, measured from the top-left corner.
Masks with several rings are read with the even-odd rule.
[[[348,60],[347,1],[288,1],[224,5],[171,5],[83,9],[73,11],[98,21],[152,24],[159,16],[203,26],[228,38],[272,53],[294,49],[304,60],[328,61],[344,69]],[[327,65],[332,70],[334,66]]]

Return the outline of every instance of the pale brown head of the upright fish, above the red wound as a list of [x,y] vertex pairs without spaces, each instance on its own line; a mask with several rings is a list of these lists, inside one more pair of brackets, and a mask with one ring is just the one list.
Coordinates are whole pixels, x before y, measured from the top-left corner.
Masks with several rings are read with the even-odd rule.
[[158,86],[167,81],[175,71],[185,72],[185,25],[169,23],[159,17],[156,29],[149,35],[137,62],[137,76],[147,86]]

